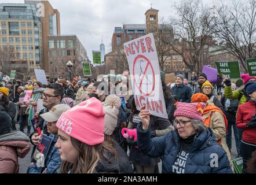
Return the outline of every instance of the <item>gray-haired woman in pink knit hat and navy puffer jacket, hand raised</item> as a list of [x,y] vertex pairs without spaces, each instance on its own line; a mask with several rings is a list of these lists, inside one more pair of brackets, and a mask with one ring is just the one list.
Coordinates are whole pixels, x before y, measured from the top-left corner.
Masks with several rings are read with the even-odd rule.
[[203,124],[204,106],[178,102],[174,112],[176,129],[156,138],[150,136],[150,113],[141,107],[138,148],[148,156],[162,156],[162,173],[232,173],[224,149]]

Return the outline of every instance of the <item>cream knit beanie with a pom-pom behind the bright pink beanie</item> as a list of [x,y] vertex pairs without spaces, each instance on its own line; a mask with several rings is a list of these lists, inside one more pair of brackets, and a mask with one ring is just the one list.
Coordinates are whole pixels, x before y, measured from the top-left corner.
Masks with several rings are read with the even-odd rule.
[[118,113],[121,106],[121,100],[118,96],[111,94],[103,102],[103,110],[105,112],[105,129],[104,134],[112,135],[116,125],[118,124]]

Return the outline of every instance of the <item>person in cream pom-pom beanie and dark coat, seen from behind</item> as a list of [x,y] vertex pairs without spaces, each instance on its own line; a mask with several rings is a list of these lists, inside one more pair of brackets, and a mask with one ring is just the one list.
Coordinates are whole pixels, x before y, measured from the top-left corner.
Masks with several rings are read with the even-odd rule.
[[104,134],[105,140],[111,144],[116,150],[118,156],[118,164],[120,173],[133,173],[133,167],[125,152],[120,145],[114,140],[112,134],[118,123],[119,108],[121,106],[120,98],[116,95],[109,95],[105,102],[103,102],[103,110],[105,112],[104,122]]

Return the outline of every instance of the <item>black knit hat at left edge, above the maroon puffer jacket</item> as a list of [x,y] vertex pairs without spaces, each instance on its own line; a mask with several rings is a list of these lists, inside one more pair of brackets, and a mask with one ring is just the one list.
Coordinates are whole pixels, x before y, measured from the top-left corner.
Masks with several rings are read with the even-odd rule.
[[12,131],[12,120],[8,113],[0,110],[0,135],[8,134]]

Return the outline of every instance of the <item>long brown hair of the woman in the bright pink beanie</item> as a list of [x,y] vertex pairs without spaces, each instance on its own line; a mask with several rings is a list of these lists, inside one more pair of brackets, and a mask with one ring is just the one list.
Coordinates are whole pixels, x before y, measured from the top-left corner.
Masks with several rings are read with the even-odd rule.
[[71,171],[71,173],[97,173],[95,168],[101,158],[111,163],[106,154],[106,150],[110,151],[115,159],[117,158],[114,147],[106,141],[98,145],[90,146],[75,138],[71,137],[70,139],[79,154],[74,164],[68,161],[61,162],[61,173],[68,173],[69,171]]

